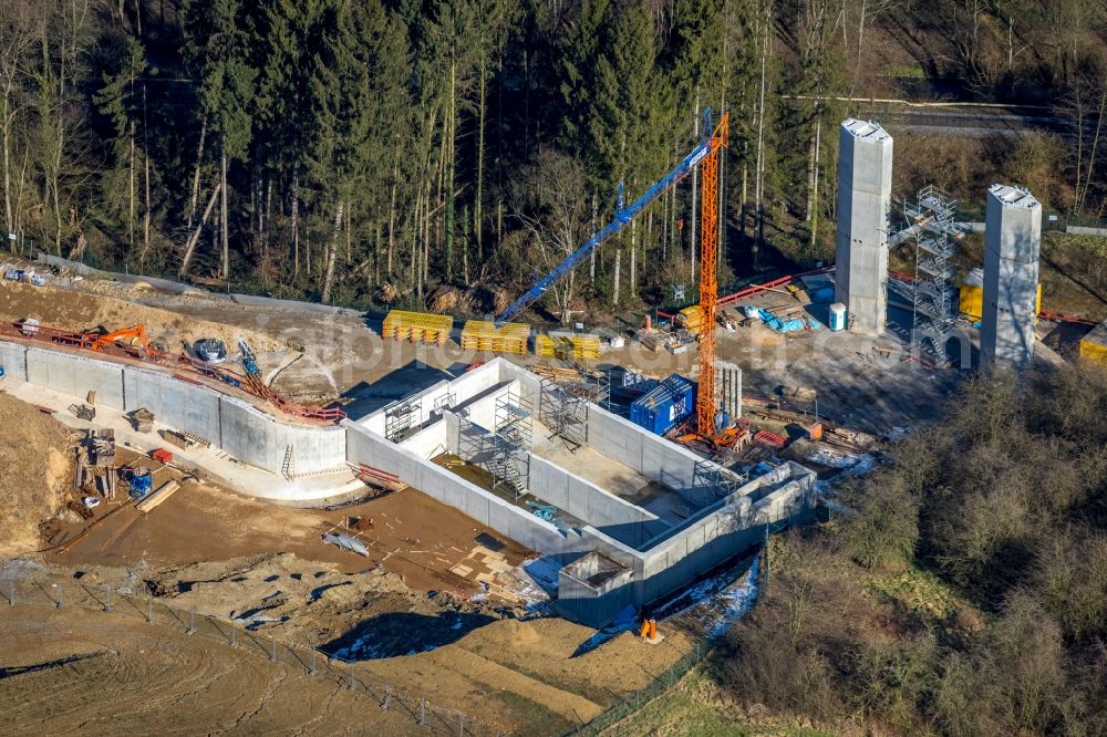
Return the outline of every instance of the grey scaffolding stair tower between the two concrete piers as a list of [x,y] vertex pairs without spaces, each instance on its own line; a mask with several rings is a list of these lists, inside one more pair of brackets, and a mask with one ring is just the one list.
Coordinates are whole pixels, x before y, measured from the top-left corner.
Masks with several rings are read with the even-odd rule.
[[952,283],[956,269],[950,262],[963,235],[954,221],[958,201],[934,186],[923,187],[915,201],[903,204],[915,243],[911,342],[917,353],[929,339],[933,353],[944,357],[956,324],[958,294]]

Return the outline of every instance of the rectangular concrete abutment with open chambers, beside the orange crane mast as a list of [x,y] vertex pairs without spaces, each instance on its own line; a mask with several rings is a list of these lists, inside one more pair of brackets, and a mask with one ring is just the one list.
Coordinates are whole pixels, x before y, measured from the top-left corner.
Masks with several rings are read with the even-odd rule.
[[[556,525],[514,504],[510,495],[433,463],[442,453],[479,463],[468,454],[479,445],[474,438],[493,432],[496,402],[514,393],[538,407],[541,392],[535,374],[496,359],[412,397],[423,425],[400,442],[384,437],[387,408],[345,421],[346,455],[351,463],[395,474],[482,525],[560,560],[567,568],[558,606],[592,626],[627,605],[655,601],[755,546],[767,523],[798,523],[814,512],[815,474],[798,464],[786,463],[743,482],[596,404],[588,405],[586,445],[575,453],[556,451],[537,432],[526,449],[527,491],[557,508]],[[621,489],[604,488],[601,477],[611,478],[615,468],[614,475],[624,479]],[[600,553],[603,565],[569,565],[590,553]],[[620,570],[611,570],[612,564]]]

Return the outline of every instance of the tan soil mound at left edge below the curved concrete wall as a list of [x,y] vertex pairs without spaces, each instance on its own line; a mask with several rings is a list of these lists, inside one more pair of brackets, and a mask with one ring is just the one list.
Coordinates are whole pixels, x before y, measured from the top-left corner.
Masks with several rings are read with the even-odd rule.
[[0,556],[17,556],[39,547],[39,523],[62,507],[74,461],[69,430],[7,394],[0,428]]

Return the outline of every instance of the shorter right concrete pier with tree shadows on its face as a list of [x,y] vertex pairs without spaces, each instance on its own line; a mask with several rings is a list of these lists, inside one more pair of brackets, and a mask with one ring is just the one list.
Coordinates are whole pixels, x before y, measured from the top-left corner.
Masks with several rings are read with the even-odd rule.
[[992,185],[985,219],[981,365],[1024,369],[1034,357],[1042,205],[1026,189]]

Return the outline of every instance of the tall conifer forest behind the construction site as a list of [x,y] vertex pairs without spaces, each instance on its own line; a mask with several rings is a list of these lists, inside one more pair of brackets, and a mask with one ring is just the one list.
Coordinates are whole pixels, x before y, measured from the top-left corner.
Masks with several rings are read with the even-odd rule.
[[[6,0],[0,39],[17,246],[238,291],[503,307],[618,183],[637,197],[690,152],[706,107],[732,116],[724,283],[831,257],[850,100],[1031,105],[1057,132],[983,172],[1076,215],[1107,193],[1099,0]],[[660,198],[546,308],[691,283],[695,197]]]

